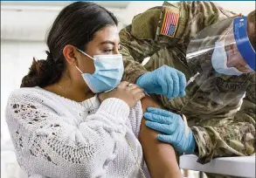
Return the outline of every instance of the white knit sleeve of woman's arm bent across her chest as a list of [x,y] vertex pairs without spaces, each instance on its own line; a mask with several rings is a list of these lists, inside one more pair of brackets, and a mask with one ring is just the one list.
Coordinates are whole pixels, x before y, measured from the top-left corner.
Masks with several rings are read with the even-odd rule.
[[29,176],[104,176],[126,133],[128,105],[120,99],[106,99],[77,127],[52,109],[51,102],[32,92],[10,95],[6,121],[20,166]]

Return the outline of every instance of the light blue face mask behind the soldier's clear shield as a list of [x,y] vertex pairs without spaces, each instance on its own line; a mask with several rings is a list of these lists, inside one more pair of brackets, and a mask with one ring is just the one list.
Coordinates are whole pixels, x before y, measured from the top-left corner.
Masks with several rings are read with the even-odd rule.
[[211,64],[214,70],[225,75],[241,75],[245,72],[240,72],[236,67],[227,66],[227,56],[225,52],[225,42],[218,41],[215,43],[215,49],[211,56]]

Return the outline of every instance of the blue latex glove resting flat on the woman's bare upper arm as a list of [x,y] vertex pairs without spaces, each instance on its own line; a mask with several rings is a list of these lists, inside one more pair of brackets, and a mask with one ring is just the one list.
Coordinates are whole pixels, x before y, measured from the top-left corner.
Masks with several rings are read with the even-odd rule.
[[189,134],[185,135],[185,124],[180,115],[170,113],[163,109],[148,107],[144,113],[146,126],[160,133],[157,139],[170,143],[177,152],[194,154],[196,141],[192,131],[189,128]]

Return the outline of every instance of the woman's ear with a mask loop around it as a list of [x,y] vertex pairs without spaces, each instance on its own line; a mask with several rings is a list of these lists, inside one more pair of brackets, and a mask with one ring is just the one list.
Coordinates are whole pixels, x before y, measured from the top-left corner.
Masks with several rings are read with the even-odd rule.
[[66,45],[63,49],[63,56],[69,65],[77,65],[78,51],[73,45]]

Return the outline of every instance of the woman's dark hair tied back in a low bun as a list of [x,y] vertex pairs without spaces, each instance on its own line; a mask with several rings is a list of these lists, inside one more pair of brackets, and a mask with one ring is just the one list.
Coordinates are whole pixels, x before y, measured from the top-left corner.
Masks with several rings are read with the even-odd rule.
[[45,87],[58,82],[66,70],[62,52],[66,45],[84,49],[96,31],[117,24],[114,14],[96,3],[76,2],[66,6],[48,33],[47,58],[38,61],[33,58],[30,71],[22,79],[20,87]]

